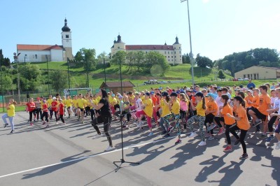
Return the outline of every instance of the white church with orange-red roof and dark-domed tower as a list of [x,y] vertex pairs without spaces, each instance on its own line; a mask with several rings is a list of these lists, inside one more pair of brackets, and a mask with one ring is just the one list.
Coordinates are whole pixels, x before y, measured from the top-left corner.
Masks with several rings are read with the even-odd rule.
[[71,29],[64,20],[62,45],[17,45],[18,62],[66,62],[73,59]]

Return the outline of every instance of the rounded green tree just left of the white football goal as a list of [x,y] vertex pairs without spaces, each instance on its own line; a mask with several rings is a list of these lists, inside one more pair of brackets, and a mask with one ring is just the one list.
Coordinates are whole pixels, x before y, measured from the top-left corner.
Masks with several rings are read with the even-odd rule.
[[50,73],[50,85],[55,91],[64,90],[68,83],[68,74],[66,71],[55,70]]

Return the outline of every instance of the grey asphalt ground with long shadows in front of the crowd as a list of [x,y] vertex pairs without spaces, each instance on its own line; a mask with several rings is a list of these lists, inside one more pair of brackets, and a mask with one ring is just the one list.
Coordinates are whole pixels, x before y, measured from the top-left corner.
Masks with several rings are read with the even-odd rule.
[[125,160],[140,165],[123,164],[115,173],[113,161],[121,158],[118,122],[111,129],[116,149],[104,152],[106,137],[96,136],[89,118],[44,129],[41,122],[27,125],[27,117],[17,113],[15,134],[9,134],[10,126],[0,128],[0,185],[280,185],[275,140],[267,144],[253,133],[247,139],[249,158],[239,160],[241,146],[223,152],[223,136],[204,147],[197,147],[198,136],[174,145],[175,138],[162,138],[160,129],[147,137],[148,128],[132,127],[124,131]]

